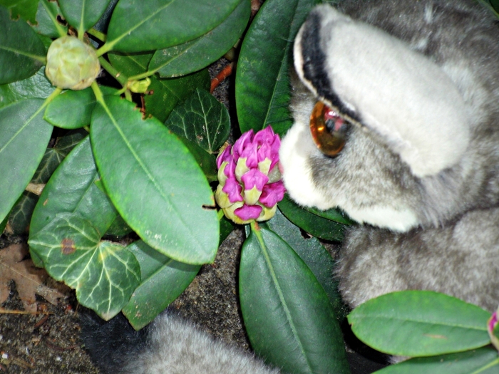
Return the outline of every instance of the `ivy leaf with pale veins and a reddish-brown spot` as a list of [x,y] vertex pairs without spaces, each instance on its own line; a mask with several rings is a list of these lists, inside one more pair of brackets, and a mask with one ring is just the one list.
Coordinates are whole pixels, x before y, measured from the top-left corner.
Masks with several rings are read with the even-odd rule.
[[53,279],[76,289],[78,301],[106,321],[128,303],[140,266],[123,246],[101,241],[91,222],[61,213],[31,236],[29,246]]

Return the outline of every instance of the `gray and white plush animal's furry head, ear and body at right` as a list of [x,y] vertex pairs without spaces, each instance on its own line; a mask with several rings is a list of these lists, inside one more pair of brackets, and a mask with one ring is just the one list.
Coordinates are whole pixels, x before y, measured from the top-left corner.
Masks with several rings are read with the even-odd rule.
[[[319,6],[295,43],[307,88],[295,88],[295,123],[282,142],[284,184],[299,204],[340,207],[364,223],[349,229],[337,273],[351,306],[429,289],[493,311],[498,21],[473,0],[341,4],[348,16]],[[309,133],[318,99],[356,123],[336,157],[322,155]]]

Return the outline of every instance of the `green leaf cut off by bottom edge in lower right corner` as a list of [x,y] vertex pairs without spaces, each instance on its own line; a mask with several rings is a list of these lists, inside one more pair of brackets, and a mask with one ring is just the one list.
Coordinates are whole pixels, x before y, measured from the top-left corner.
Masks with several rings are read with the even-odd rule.
[[485,347],[450,355],[412,358],[376,371],[376,374],[496,374],[498,372],[498,351]]

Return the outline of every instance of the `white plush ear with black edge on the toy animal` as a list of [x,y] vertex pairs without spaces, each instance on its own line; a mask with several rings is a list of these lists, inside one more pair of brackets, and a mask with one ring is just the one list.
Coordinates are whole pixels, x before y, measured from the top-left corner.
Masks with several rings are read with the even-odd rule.
[[451,78],[379,28],[318,6],[299,31],[294,63],[319,99],[381,135],[413,175],[438,174],[468,147],[469,115]]

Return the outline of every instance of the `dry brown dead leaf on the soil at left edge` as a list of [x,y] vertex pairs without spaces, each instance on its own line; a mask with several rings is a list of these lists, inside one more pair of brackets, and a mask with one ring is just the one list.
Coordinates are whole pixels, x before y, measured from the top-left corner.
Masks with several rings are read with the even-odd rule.
[[37,268],[31,259],[26,259],[28,253],[27,244],[11,244],[0,250],[0,303],[9,297],[9,281],[14,280],[24,309],[35,313],[35,294],[41,294],[51,303],[56,302],[56,299],[63,297],[64,294],[43,285],[48,274],[44,269]]

